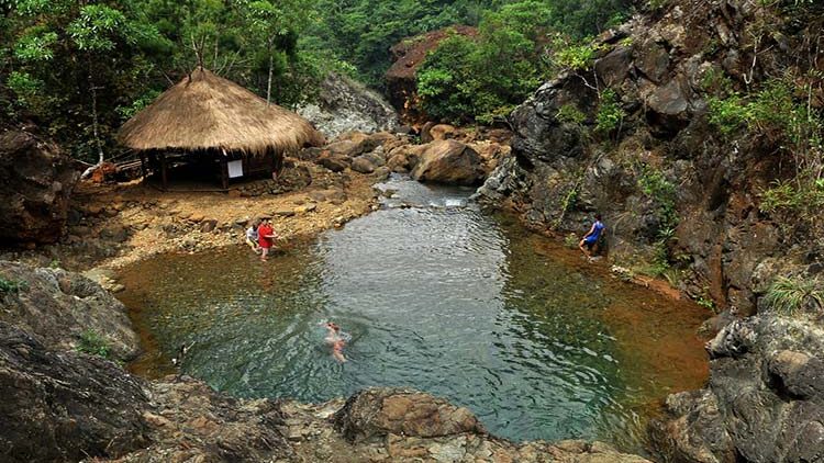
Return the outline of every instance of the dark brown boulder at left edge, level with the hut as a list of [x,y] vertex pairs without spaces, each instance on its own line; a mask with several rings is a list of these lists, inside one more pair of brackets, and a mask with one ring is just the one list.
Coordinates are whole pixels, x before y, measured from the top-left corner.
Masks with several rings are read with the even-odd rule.
[[0,133],[0,240],[57,241],[79,179],[55,144],[21,129]]

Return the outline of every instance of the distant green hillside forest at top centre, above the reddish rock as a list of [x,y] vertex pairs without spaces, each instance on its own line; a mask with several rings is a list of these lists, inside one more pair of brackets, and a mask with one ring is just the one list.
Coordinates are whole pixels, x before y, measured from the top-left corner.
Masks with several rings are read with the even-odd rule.
[[[481,25],[491,14],[503,14],[504,29],[531,35],[535,11],[546,12],[542,26],[581,38],[626,19],[627,0],[320,0],[319,21],[308,31],[338,59],[353,63],[359,77],[383,84],[390,66],[389,48],[402,39],[455,24]],[[523,25],[520,26],[520,25]],[[543,41],[543,37],[542,37]],[[487,74],[502,69],[490,68]]]

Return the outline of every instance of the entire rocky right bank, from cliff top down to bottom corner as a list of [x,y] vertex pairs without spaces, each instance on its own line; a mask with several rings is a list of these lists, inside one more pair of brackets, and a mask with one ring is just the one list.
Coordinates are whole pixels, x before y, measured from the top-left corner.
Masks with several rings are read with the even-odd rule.
[[[612,262],[657,267],[728,309],[708,343],[709,384],[670,396],[652,429],[662,461],[824,461],[823,244],[810,219],[821,203],[767,205],[767,191],[821,162],[816,143],[776,124],[821,120],[823,23],[821,2],[665,2],[600,36],[590,66],[514,111],[514,156],[478,192],[535,227],[579,235],[601,212]],[[765,297],[788,274],[806,301],[792,316]]]

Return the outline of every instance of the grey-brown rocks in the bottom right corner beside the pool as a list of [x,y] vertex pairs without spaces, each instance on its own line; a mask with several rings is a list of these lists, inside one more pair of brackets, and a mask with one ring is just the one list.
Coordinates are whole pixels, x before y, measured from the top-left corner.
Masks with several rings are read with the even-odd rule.
[[709,386],[667,399],[653,427],[668,461],[824,461],[824,329],[759,315],[708,343]]

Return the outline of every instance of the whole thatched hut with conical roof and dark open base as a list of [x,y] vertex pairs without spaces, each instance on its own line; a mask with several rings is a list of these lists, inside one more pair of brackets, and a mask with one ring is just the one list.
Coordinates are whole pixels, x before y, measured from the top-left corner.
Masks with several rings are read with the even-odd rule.
[[[276,172],[285,153],[320,145],[323,136],[298,114],[198,68],[129,120],[119,140],[162,172],[186,160],[220,167],[223,189],[233,178]],[[215,169],[216,170],[216,169]]]

